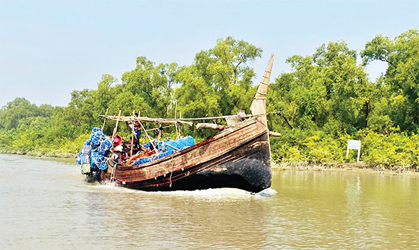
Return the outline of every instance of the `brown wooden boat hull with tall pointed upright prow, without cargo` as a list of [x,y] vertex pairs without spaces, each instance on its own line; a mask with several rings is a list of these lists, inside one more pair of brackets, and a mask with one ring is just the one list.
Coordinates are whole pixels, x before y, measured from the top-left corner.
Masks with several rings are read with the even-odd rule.
[[102,181],[143,191],[230,187],[256,193],[269,188],[270,132],[265,110],[272,64],[273,54],[253,98],[251,115],[236,117],[240,122],[163,159],[140,166],[110,164],[101,172]]

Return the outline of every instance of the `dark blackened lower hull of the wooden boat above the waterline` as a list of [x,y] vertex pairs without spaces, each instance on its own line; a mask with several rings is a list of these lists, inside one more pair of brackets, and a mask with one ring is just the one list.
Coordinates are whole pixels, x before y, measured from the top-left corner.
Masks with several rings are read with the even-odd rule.
[[270,147],[263,133],[226,154],[154,179],[116,183],[143,191],[237,188],[257,193],[271,186]]

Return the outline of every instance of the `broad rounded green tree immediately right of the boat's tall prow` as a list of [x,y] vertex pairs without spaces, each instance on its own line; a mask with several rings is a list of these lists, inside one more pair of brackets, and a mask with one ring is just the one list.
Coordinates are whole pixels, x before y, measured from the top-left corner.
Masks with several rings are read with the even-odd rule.
[[268,110],[281,112],[277,121],[283,128],[354,133],[368,126],[377,87],[356,64],[355,50],[331,42],[311,56],[286,61],[293,72],[281,74],[268,95]]

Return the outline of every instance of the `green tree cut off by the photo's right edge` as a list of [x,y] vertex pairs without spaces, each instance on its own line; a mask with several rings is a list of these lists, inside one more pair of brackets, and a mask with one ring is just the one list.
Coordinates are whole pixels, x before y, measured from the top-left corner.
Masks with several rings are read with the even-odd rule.
[[385,112],[402,131],[419,133],[419,31],[411,29],[394,39],[378,35],[365,45],[364,64],[385,61],[383,78],[389,89]]

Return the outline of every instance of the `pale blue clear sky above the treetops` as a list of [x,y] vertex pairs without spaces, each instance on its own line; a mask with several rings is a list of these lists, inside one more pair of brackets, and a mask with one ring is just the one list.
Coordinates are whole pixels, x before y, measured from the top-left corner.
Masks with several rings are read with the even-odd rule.
[[[73,90],[96,89],[103,74],[120,80],[139,56],[191,65],[227,36],[262,48],[253,82],[274,53],[273,82],[291,71],[285,61],[294,54],[330,41],[359,53],[378,34],[409,29],[419,29],[418,0],[0,0],[0,107],[16,97],[66,106]],[[369,78],[386,67],[373,62]]]

